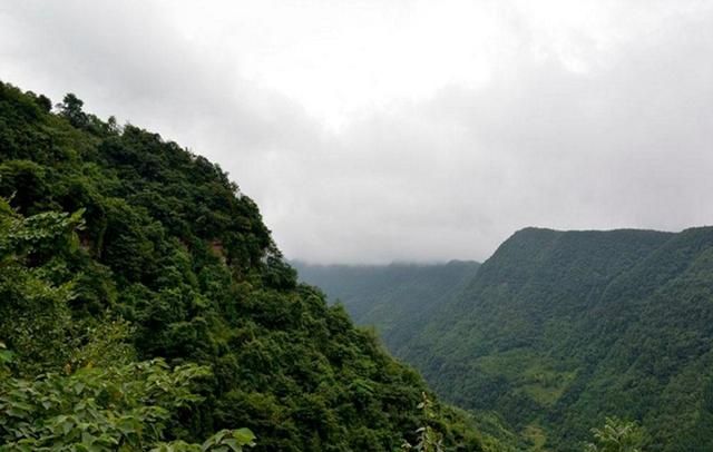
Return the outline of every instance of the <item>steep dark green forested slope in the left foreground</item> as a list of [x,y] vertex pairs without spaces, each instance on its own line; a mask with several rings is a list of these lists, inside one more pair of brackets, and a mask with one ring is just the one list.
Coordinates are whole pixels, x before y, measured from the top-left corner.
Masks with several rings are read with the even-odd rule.
[[[216,165],[0,83],[8,450],[482,450],[343,308],[299,284]],[[433,400],[433,397],[431,397]],[[486,443],[492,440],[486,440]]]

